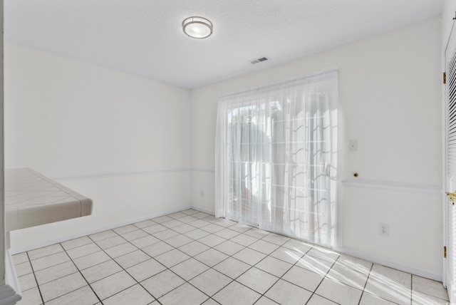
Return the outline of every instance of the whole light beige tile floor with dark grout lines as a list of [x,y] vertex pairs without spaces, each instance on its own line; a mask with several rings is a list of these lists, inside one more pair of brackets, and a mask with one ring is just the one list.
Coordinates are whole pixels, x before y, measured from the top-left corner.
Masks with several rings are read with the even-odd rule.
[[195,210],[13,259],[19,305],[448,302],[437,281]]

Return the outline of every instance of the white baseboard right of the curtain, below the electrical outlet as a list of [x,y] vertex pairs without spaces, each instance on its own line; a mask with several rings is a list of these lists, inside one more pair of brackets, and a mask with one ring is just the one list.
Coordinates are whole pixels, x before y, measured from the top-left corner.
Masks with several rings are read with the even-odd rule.
[[410,266],[408,264],[402,264],[400,262],[391,261],[389,259],[384,259],[382,257],[377,257],[373,254],[369,254],[369,253],[366,253],[366,252],[363,252],[363,251],[360,251],[357,249],[351,249],[348,247],[336,247],[336,248],[334,248],[334,250],[336,250],[338,252],[342,252],[344,254],[351,255],[352,257],[359,257],[360,259],[366,259],[369,262],[373,262],[375,264],[380,264],[380,265],[390,267],[393,269],[398,269],[403,272],[408,272],[410,274],[422,276],[427,279],[433,279],[435,281],[442,281],[442,276],[443,276],[442,274],[430,272],[428,270],[424,270],[424,269],[420,269],[420,268],[416,268],[416,267]]

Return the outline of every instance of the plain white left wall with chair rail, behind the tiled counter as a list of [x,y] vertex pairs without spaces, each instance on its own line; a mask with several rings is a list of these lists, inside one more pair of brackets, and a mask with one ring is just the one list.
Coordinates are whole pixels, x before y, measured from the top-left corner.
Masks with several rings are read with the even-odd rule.
[[11,249],[190,204],[185,89],[6,43],[5,113],[6,168],[93,199],[89,217],[12,232]]

